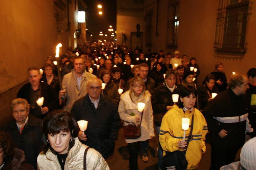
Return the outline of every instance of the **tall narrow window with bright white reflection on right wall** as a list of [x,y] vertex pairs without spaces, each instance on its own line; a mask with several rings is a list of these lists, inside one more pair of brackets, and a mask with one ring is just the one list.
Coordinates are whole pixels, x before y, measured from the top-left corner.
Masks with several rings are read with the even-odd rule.
[[167,9],[166,48],[178,48],[180,1],[171,0]]

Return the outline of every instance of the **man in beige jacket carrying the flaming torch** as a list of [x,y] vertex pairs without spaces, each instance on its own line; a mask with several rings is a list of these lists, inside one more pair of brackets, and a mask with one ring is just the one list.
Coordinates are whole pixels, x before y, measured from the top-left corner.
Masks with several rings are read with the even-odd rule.
[[71,73],[64,76],[62,81],[63,90],[59,91],[60,97],[67,98],[65,110],[68,112],[70,112],[76,100],[86,95],[86,81],[90,78],[96,78],[95,75],[85,71],[84,59],[82,57],[75,59],[74,66],[75,68],[72,69]]

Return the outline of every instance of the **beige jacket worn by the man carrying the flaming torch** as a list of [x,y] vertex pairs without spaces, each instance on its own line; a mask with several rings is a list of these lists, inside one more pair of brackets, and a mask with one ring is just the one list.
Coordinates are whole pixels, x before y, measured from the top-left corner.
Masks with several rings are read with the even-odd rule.
[[90,78],[97,78],[95,75],[86,72],[86,70],[84,70],[82,77],[81,86],[80,89],[78,89],[75,68],[71,71],[71,73],[64,75],[62,80],[62,88],[63,90],[66,90],[67,102],[65,110],[68,112],[70,112],[76,100],[84,97],[87,94],[86,81]]

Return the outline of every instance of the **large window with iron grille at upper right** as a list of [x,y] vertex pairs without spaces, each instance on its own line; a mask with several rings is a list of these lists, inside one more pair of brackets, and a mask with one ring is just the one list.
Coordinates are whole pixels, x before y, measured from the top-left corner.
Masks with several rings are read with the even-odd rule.
[[252,2],[219,0],[214,49],[217,52],[245,53]]

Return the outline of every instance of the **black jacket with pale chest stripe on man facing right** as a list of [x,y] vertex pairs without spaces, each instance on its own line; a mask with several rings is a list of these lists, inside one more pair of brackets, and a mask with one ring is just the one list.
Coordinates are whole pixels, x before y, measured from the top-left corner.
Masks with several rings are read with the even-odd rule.
[[[219,93],[202,111],[212,143],[223,148],[241,147],[245,141],[246,120],[237,123],[222,123],[213,117],[241,116],[247,112],[248,106],[242,95],[235,95],[231,89]],[[225,129],[228,134],[224,138],[218,135],[222,129]]]

